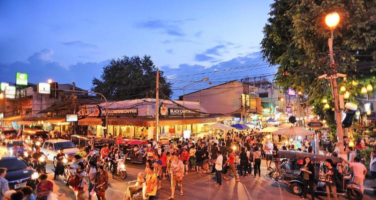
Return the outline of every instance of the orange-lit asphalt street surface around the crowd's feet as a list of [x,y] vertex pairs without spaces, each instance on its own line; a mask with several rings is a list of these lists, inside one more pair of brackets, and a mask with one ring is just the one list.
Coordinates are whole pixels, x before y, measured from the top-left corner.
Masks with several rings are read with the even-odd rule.
[[[214,175],[190,172],[183,179],[184,195],[180,196],[179,189],[176,187],[175,199],[299,199],[298,196],[291,193],[291,189],[287,185],[271,180],[266,174],[267,169],[265,165],[265,160],[263,160],[261,177],[241,177],[240,182],[235,182],[235,178],[231,180],[223,179],[221,186],[215,186]],[[112,178],[110,175],[110,185],[106,190],[106,199],[123,200],[128,182],[136,179],[137,173],[144,170],[144,165],[129,163],[126,164],[126,169],[127,177],[124,180],[119,176]],[[52,180],[53,171],[51,163],[47,165],[47,172],[49,173],[49,180]],[[75,199],[73,190],[66,186],[64,181],[61,179],[52,181],[54,182],[54,192],[58,194],[60,200]],[[87,199],[87,185],[85,185],[84,191],[84,197]],[[156,199],[167,199],[169,195],[169,180],[163,180],[162,188],[158,190]],[[339,196],[338,198],[346,199],[343,196]],[[96,197],[93,197],[93,199],[96,199]],[[327,199],[327,197],[320,195],[318,199]],[[376,199],[376,196],[365,194],[363,199]]]

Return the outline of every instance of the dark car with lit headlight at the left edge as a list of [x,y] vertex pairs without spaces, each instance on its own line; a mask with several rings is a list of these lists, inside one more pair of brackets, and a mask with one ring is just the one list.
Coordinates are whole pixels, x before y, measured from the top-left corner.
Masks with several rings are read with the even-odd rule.
[[23,159],[15,156],[3,156],[0,167],[7,168],[5,178],[11,189],[21,189],[24,186],[35,187],[38,184],[39,174]]

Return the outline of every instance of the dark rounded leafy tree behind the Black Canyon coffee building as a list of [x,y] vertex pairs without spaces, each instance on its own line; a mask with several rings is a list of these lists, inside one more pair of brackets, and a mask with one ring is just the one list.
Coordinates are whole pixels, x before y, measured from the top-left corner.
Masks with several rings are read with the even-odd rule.
[[[103,67],[101,79],[93,78],[92,90],[111,100],[155,97],[156,66],[150,56],[123,56]],[[169,98],[171,84],[159,71],[159,94]]]

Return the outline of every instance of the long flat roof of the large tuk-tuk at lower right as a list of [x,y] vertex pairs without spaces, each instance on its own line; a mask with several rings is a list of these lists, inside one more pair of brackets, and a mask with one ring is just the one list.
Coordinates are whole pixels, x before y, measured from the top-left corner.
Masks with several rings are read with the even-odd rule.
[[307,153],[297,150],[278,150],[277,154],[280,157],[292,158],[292,159],[304,159],[304,157],[310,157],[312,160],[325,161],[325,159],[331,159],[334,163],[342,162],[342,159],[334,156],[319,155],[314,153]]

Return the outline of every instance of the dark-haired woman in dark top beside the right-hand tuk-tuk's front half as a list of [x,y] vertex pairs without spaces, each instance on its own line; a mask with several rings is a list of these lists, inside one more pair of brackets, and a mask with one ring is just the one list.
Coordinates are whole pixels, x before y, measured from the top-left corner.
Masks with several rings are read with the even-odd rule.
[[330,194],[333,193],[334,199],[337,200],[337,182],[339,182],[338,169],[333,167],[333,161],[331,159],[326,159],[325,165],[327,167],[327,172],[324,174],[326,194],[328,196],[328,199],[331,200]]

